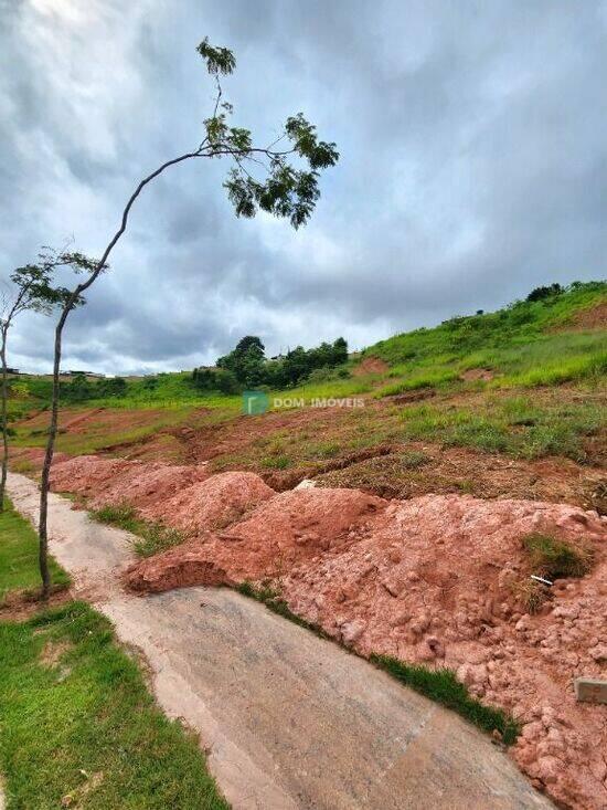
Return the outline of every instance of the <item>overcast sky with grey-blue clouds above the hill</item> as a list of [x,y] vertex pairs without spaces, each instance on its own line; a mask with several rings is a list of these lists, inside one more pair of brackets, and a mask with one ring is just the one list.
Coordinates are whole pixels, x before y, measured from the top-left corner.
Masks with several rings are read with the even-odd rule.
[[[607,3],[0,0],[0,277],[42,244],[103,252],[137,181],[195,146],[209,35],[234,123],[302,111],[339,165],[298,232],[238,220],[227,167],[148,188],[65,338],[66,368],[191,368],[243,335],[353,348],[547,282],[603,278]],[[52,322],[11,362],[47,370]]]

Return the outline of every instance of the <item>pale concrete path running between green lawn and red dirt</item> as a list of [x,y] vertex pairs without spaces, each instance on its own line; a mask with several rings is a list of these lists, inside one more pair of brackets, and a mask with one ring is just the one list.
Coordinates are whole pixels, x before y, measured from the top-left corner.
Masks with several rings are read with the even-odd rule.
[[[35,517],[29,478],[11,475],[9,492]],[[198,730],[237,810],[552,807],[487,737],[336,644],[226,589],[125,593],[132,537],[55,495],[50,528],[75,596],[142,651],[160,705]]]

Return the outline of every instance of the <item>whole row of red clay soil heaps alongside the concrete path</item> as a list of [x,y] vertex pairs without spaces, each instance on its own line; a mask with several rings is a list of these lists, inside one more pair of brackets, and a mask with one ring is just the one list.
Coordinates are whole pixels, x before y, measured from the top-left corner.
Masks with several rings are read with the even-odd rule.
[[[90,491],[100,480],[108,491],[108,462],[81,461],[79,472],[77,460],[58,464],[54,481]],[[141,474],[146,466],[138,466]],[[295,613],[361,655],[454,669],[472,694],[520,720],[511,753],[539,787],[562,807],[607,807],[607,706],[576,703],[573,692],[578,675],[607,676],[607,518],[562,504],[455,494],[386,501],[358,490],[307,488],[271,495],[251,473],[185,488],[182,470],[174,467],[172,499],[121,487],[146,514],[195,533],[132,566],[130,588],[270,579]],[[213,520],[234,514],[231,492],[236,520],[209,532]],[[222,507],[213,512],[217,497]],[[255,497],[258,505],[243,513],[242,504]],[[531,532],[594,555],[589,574],[545,589],[536,614],[525,612],[534,571],[522,538]]]

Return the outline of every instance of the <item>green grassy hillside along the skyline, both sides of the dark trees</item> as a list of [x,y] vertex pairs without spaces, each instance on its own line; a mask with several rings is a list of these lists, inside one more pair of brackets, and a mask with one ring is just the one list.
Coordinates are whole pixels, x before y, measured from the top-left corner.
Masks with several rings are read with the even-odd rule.
[[[309,402],[322,397],[372,393],[377,399],[424,388],[496,389],[601,383],[607,372],[607,283],[572,284],[540,301],[520,301],[494,313],[454,317],[381,340],[345,366],[318,369],[295,389],[277,391]],[[365,366],[385,361],[383,370]],[[238,396],[196,388],[189,371],[130,378],[119,392],[107,381],[88,382],[84,396],[62,386],[62,403],[75,408],[180,408],[204,406],[237,411]],[[81,392],[82,393],[82,392]],[[51,380],[22,376],[11,381],[11,418],[47,407]]]

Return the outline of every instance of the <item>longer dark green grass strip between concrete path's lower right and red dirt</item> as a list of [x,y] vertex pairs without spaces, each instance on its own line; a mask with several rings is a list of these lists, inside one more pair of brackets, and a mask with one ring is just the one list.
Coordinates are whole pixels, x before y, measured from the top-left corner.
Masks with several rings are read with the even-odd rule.
[[451,670],[428,670],[417,664],[406,664],[391,655],[372,654],[370,660],[392,677],[457,712],[483,732],[499,732],[504,745],[512,745],[517,740],[521,730],[519,724],[502,709],[486,706],[472,697]]

